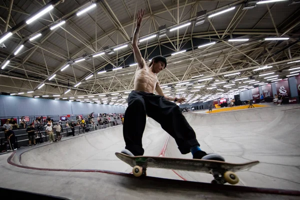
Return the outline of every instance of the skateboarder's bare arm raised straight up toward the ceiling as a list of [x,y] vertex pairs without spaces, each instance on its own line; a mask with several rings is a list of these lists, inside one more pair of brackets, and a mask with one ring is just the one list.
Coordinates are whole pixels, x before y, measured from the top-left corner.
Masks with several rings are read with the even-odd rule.
[[137,12],[137,20],[136,20],[136,27],[133,33],[133,37],[132,37],[132,47],[133,47],[133,53],[134,53],[134,57],[137,61],[137,65],[138,67],[142,68],[145,65],[145,61],[141,56],[141,53],[138,49],[137,43],[138,43],[138,33],[139,33],[139,28],[140,28],[140,24],[142,21],[142,17],[144,15],[145,10],[140,9]]

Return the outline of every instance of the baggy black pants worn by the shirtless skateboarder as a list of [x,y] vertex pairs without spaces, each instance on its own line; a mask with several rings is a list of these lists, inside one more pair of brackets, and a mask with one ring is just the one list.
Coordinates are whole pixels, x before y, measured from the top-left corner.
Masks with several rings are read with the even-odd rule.
[[125,148],[134,155],[143,155],[141,138],[146,124],[146,114],[160,123],[161,127],[176,141],[182,154],[190,147],[199,145],[194,130],[190,127],[175,103],[161,95],[143,91],[131,91],[124,114],[123,136]]

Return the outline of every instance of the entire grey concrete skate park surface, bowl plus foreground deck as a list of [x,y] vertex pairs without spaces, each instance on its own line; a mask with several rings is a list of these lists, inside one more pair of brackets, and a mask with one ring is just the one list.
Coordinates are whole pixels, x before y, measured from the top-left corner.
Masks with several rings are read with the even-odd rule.
[[[300,105],[184,116],[202,150],[219,153],[228,162],[260,163],[237,172],[237,185],[214,186],[210,174],[168,169],[148,168],[147,177],[132,177],[132,167],[114,155],[124,147],[122,125],[118,125],[0,155],[0,187],[69,199],[299,198],[300,192],[289,190],[300,188]],[[192,157],[180,154],[174,139],[151,118],[143,147],[144,155]],[[273,194],[267,188],[273,188]],[[246,194],[241,192],[246,189]],[[296,195],[274,194],[283,194],[280,189]]]

